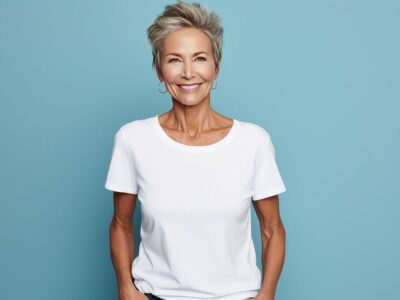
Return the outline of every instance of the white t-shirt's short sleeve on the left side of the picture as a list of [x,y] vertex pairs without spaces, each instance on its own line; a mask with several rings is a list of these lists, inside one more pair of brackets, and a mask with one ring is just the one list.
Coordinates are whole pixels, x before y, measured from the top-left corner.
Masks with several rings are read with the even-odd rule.
[[110,191],[137,194],[136,179],[135,163],[121,127],[114,136],[111,161],[104,187]]

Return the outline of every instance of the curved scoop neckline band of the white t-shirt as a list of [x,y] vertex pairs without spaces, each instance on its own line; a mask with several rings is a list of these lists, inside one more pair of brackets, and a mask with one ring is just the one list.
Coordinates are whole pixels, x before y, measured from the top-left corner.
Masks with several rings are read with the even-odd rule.
[[189,151],[189,152],[209,152],[209,151],[213,151],[215,149],[218,149],[220,147],[222,147],[223,145],[227,144],[233,137],[235,131],[236,131],[236,127],[238,125],[238,121],[236,119],[232,119],[233,120],[233,124],[231,126],[231,129],[229,130],[229,132],[219,141],[209,144],[209,145],[187,145],[187,144],[182,144],[179,143],[177,141],[175,141],[173,138],[171,138],[162,128],[159,120],[158,120],[158,114],[155,115],[153,117],[153,124],[154,127],[158,133],[158,135],[164,140],[164,142],[166,142],[167,144],[180,149],[180,150],[184,150],[184,151]]

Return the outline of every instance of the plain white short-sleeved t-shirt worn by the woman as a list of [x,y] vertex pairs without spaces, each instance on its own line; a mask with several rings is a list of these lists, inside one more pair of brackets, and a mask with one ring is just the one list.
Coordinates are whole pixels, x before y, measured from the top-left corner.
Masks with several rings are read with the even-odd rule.
[[234,119],[222,140],[193,146],[169,137],[158,115],[129,122],[115,134],[105,188],[141,202],[131,271],[142,293],[167,300],[257,295],[250,200],[286,191],[264,128]]

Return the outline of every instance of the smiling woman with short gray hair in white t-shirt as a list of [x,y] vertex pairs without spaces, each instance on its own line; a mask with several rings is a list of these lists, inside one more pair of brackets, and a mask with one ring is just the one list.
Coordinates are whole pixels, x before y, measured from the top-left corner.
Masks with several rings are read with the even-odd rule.
[[[285,253],[278,194],[286,188],[268,132],[210,106],[220,18],[178,1],[147,33],[172,109],[115,135],[105,188],[114,191],[110,244],[119,299],[274,299]],[[142,240],[134,258],[136,199]],[[262,274],[250,203],[261,226]]]

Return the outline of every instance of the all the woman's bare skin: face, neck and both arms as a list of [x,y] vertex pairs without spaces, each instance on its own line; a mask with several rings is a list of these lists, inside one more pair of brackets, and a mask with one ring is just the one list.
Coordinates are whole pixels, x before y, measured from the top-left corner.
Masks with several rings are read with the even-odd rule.
[[[201,52],[199,54],[199,52]],[[175,54],[171,54],[175,53]],[[172,99],[172,109],[159,115],[165,132],[179,143],[209,145],[223,139],[233,120],[211,108],[210,92],[218,68],[207,35],[194,28],[170,33],[161,49],[157,76]],[[202,83],[193,93],[180,91],[178,84]],[[120,300],[147,300],[133,284],[133,214],[137,195],[114,192],[114,215],[110,224],[111,258]],[[262,240],[263,283],[259,294],[248,299],[273,300],[285,255],[285,230],[279,216],[278,195],[253,201]]]

